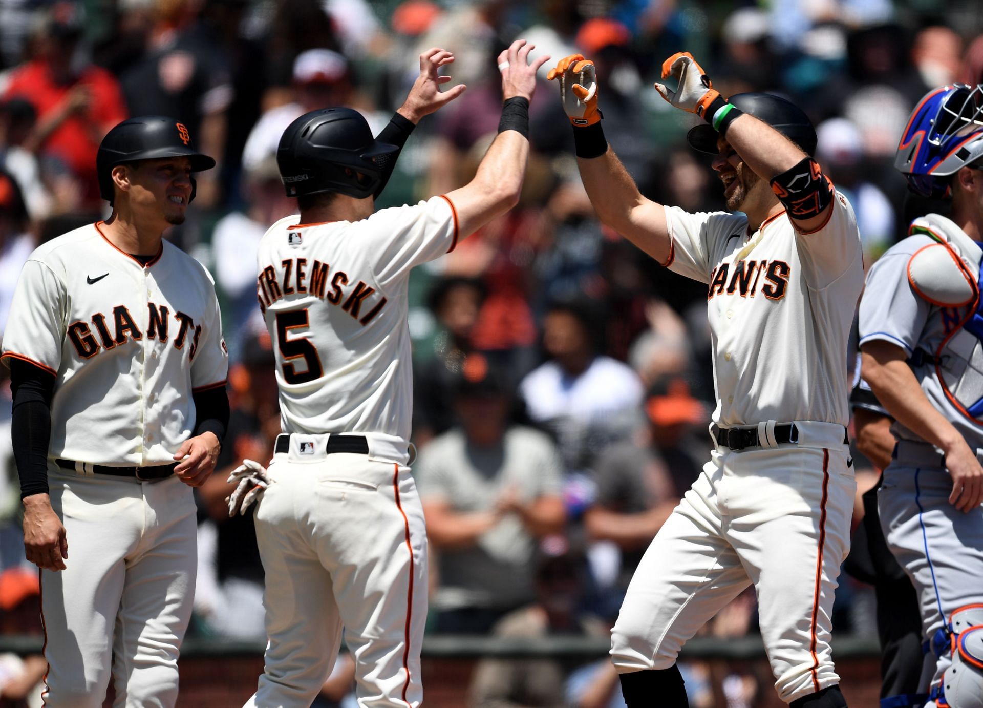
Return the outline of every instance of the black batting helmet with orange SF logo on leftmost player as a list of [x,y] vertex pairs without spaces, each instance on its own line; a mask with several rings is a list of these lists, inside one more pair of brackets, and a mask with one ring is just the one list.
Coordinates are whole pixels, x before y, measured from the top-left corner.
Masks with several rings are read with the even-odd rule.
[[[111,131],[99,144],[95,155],[95,171],[99,177],[99,196],[113,203],[113,167],[125,162],[160,157],[188,157],[192,172],[215,166],[215,160],[191,145],[191,136],[184,123],[166,116],[130,118]],[[191,181],[191,200],[195,199],[195,180]]]

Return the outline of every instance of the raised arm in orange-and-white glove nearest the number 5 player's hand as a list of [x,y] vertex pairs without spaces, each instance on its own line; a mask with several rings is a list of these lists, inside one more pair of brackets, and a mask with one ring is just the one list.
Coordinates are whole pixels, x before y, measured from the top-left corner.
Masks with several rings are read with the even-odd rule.
[[573,124],[577,167],[602,223],[617,231],[659,263],[669,257],[665,208],[646,199],[609,148],[601,129],[594,62],[581,54],[564,57],[549,70],[557,81],[563,109]]

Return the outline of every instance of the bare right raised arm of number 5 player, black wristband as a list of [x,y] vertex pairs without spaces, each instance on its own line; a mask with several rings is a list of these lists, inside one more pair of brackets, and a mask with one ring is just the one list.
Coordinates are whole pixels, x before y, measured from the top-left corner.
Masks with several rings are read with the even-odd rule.
[[457,214],[459,238],[474,233],[519,203],[529,160],[529,101],[536,91],[536,72],[548,60],[529,63],[534,45],[517,39],[498,55],[504,104],[498,136],[485,153],[475,178],[446,197]]

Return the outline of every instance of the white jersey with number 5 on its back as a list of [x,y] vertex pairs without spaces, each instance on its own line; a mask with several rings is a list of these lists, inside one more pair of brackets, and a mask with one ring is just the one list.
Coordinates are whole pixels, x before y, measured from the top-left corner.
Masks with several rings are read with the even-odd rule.
[[354,223],[298,221],[274,223],[257,256],[283,431],[370,433],[405,448],[413,411],[410,269],[453,250],[454,207],[434,197]]

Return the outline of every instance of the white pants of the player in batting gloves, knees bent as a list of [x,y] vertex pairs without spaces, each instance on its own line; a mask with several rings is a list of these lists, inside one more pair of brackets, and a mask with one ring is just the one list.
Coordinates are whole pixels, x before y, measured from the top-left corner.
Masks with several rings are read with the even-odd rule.
[[830,618],[856,483],[843,429],[811,425],[820,440],[809,444],[829,446],[712,453],[628,586],[611,630],[618,673],[668,669],[686,640],[753,583],[781,700],[839,682]]

